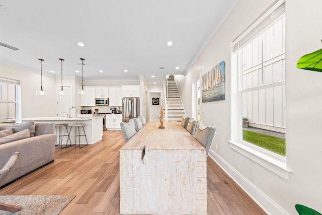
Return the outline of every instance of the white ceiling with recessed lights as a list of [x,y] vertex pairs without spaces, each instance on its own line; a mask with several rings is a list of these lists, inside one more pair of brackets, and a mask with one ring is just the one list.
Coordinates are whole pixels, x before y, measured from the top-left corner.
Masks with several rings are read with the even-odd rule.
[[85,83],[143,75],[162,84],[189,70],[237,2],[0,0],[0,42],[19,48],[0,46],[0,62],[39,73],[42,58],[43,73],[61,77],[63,58],[63,77],[81,78],[84,58]]

